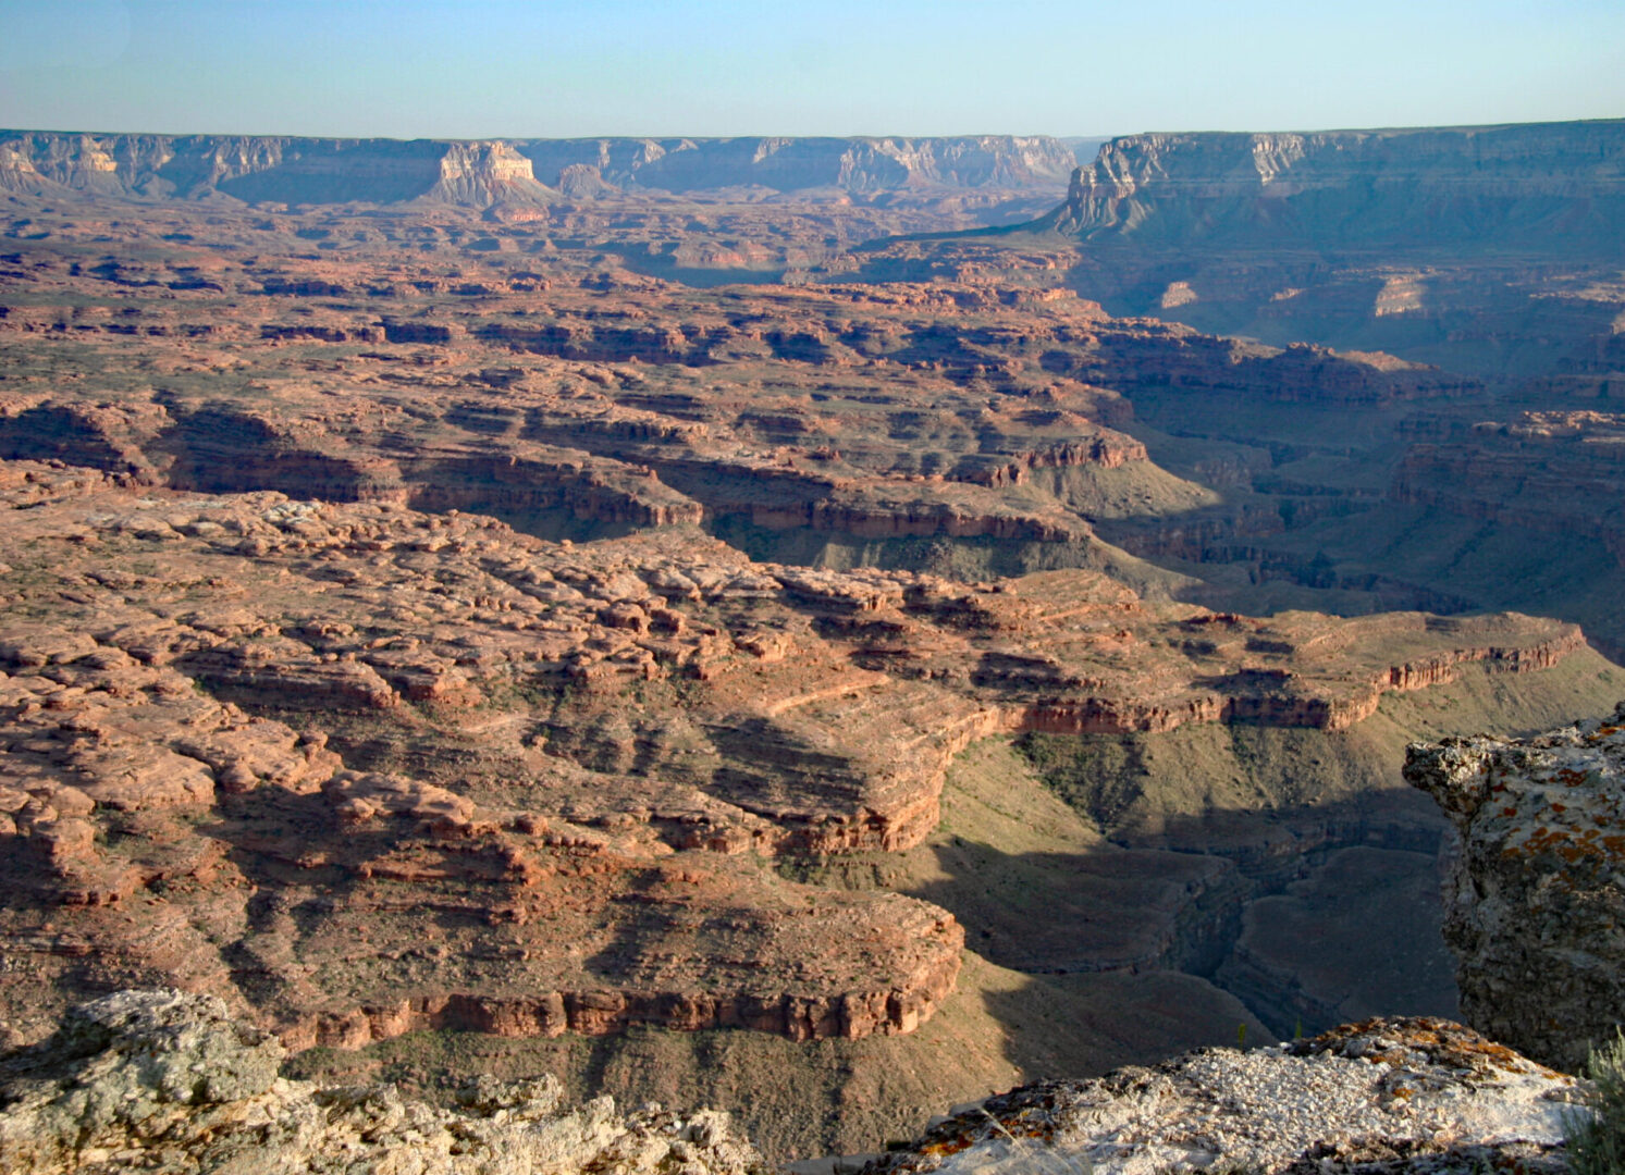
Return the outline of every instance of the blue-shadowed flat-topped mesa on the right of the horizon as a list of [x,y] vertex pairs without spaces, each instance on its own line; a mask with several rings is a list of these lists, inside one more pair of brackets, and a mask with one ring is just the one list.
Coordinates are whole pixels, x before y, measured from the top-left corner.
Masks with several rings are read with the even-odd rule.
[[1040,224],[1094,242],[1618,254],[1625,120],[1129,135]]

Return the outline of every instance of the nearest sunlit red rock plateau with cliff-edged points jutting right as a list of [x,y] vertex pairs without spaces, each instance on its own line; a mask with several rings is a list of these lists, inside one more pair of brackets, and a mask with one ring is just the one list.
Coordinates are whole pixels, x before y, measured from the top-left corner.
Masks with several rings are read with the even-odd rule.
[[1089,572],[816,572],[692,531],[566,548],[26,463],[5,497],[0,930],[37,980],[8,1008],[167,973],[297,1045],[912,1032],[952,991],[957,921],[756,860],[918,845],[990,735],[1346,730],[1467,663],[1580,647],[1514,616],[1261,622]]

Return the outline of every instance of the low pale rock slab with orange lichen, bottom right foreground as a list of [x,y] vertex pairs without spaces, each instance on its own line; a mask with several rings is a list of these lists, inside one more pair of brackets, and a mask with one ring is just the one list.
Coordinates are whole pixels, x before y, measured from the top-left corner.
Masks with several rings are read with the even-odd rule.
[[1027,1086],[934,1126],[881,1172],[1566,1172],[1573,1077],[1459,1024],[1373,1019]]

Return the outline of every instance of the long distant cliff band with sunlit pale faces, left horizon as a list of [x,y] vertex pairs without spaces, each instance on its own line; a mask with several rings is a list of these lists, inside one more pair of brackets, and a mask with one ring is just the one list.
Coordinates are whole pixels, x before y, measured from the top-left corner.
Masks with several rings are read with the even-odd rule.
[[618,187],[1058,192],[1071,169],[1072,153],[1058,140],[1014,135],[447,141],[0,132],[0,192],[57,198],[491,208],[592,200]]

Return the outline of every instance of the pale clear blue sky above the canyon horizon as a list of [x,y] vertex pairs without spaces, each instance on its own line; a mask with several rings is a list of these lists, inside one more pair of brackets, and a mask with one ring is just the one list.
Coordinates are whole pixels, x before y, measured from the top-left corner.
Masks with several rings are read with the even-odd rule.
[[1094,135],[1625,115],[1625,0],[0,0],[0,125]]

